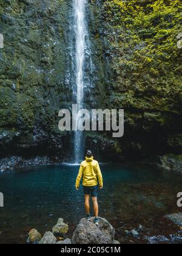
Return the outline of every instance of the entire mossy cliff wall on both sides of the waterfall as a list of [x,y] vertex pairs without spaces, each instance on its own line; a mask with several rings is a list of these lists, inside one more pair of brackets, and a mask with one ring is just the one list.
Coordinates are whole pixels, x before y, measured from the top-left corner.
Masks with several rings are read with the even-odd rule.
[[[124,137],[87,133],[107,160],[182,149],[181,1],[89,0],[92,106],[124,108]],[[0,3],[0,157],[68,155],[58,111],[72,104],[67,81],[72,1]],[[86,105],[91,107],[86,95]]]

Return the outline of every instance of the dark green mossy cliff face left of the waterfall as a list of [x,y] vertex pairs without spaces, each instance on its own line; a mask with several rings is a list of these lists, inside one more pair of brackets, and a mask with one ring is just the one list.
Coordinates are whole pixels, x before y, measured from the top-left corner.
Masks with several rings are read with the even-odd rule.
[[[58,111],[65,83],[69,1],[1,1],[0,155],[64,157],[69,138]],[[51,152],[51,153],[50,153]]]

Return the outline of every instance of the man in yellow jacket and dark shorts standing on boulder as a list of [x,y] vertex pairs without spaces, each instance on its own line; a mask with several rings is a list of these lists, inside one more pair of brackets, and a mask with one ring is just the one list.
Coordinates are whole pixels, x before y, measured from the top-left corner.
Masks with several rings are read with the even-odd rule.
[[99,188],[103,188],[103,176],[96,160],[93,160],[92,151],[88,150],[86,160],[83,161],[79,168],[78,177],[76,179],[76,190],[79,189],[80,180],[83,177],[83,187],[85,195],[85,208],[87,219],[90,221],[90,194],[93,201],[93,211],[95,214],[95,224],[98,225],[98,183]]

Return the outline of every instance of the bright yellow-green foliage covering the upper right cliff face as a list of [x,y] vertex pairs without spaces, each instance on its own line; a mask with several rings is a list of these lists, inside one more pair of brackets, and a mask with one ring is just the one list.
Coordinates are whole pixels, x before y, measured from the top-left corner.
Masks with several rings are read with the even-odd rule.
[[113,104],[180,112],[182,2],[113,0],[103,8],[115,54]]

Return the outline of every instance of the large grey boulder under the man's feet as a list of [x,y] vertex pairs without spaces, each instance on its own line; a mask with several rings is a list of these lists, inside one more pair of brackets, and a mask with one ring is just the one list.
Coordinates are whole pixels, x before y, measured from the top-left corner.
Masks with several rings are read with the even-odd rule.
[[115,237],[115,229],[104,218],[99,218],[99,225],[94,224],[94,218],[87,221],[81,219],[73,233],[73,244],[112,244]]

